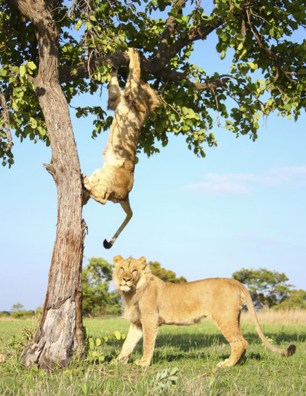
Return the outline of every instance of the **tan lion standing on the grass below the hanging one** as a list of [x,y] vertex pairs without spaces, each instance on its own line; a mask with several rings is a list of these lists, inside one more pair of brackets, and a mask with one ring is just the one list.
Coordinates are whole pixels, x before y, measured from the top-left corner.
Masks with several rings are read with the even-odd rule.
[[230,343],[230,357],[219,367],[234,366],[245,355],[248,342],[240,328],[243,300],[263,343],[283,356],[292,355],[295,346],[287,350],[270,344],[261,331],[250,293],[234,279],[210,278],[182,284],[166,283],[152,275],[146,258],[139,260],[121,256],[113,258],[113,282],[124,300],[124,317],[131,321],[127,340],[117,362],[127,363],[133,348],[143,336],[143,355],[136,364],[149,366],[155,338],[161,324],[188,325],[210,317]]

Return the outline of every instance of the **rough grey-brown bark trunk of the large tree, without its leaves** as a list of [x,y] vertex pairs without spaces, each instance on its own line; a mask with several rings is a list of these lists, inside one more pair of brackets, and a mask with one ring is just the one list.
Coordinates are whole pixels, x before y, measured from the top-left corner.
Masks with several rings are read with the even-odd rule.
[[43,315],[34,340],[22,355],[30,366],[67,366],[76,351],[83,353],[82,184],[80,163],[67,101],[58,81],[58,30],[52,1],[10,0],[33,24],[39,43],[36,95],[45,117],[52,160],[45,164],[56,183],[58,222]]

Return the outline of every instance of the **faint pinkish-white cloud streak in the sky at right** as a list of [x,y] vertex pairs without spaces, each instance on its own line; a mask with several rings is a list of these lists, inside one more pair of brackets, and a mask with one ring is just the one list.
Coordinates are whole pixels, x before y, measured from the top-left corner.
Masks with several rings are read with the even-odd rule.
[[190,183],[186,189],[195,193],[212,195],[251,194],[256,185],[274,187],[306,186],[306,165],[299,167],[278,167],[269,169],[266,174],[205,174],[199,183]]

